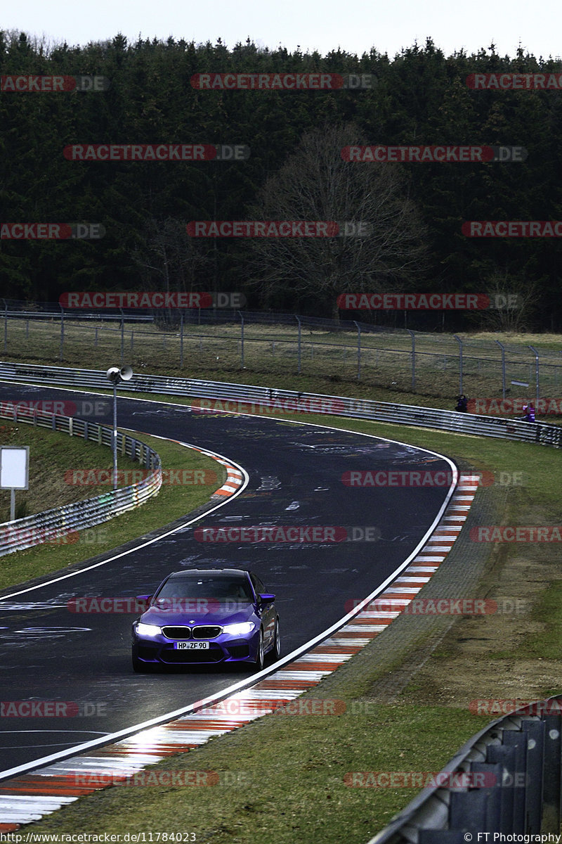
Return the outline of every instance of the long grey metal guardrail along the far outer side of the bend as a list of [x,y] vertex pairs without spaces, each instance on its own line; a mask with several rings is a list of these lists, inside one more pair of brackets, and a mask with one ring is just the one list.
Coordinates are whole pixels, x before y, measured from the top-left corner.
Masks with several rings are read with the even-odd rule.
[[[44,384],[45,387],[68,386],[81,390],[108,389],[105,371],[8,362],[0,362],[0,381],[25,381]],[[545,446],[554,446],[554,448],[562,446],[562,426],[559,425],[462,414],[415,405],[376,402],[367,398],[325,396],[318,393],[254,387],[248,384],[167,378],[142,373],[135,373],[131,381],[126,381],[126,384],[120,384],[117,388],[124,392],[153,392],[208,399],[209,404],[201,403],[201,409],[207,410],[212,410],[213,407],[220,409],[221,406],[217,402],[222,402],[222,409],[242,411],[244,408],[241,405],[249,403],[249,412],[270,415],[294,414],[298,418],[302,414],[310,413],[334,414],[355,419],[450,430],[459,434],[538,442]]]

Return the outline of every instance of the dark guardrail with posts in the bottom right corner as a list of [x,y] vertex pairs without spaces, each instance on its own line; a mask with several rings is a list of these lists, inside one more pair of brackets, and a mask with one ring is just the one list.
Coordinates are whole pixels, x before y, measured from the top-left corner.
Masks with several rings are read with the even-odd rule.
[[368,844],[558,841],[561,712],[559,695],[489,724]]

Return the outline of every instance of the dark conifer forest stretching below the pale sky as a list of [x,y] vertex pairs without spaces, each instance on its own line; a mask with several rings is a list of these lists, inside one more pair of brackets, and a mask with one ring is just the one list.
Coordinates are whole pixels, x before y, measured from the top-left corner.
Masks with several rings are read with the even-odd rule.
[[[87,46],[50,46],[0,32],[3,75],[110,79],[110,89],[99,93],[0,93],[0,220],[94,222],[106,230],[100,241],[0,241],[1,295],[57,300],[63,291],[81,289],[240,290],[254,310],[329,317],[335,291],[353,289],[357,279],[357,289],[372,290],[532,290],[526,326],[562,330],[558,240],[470,239],[461,232],[469,219],[562,219],[562,95],[474,91],[465,82],[469,73],[560,69],[559,62],[521,50],[501,57],[494,46],[447,57],[431,40],[389,58],[374,49],[361,57],[267,51],[250,41],[230,50],[220,41],[129,44],[122,35]],[[377,82],[371,89],[327,92],[206,91],[190,84],[195,73],[316,71],[367,73]],[[386,216],[377,219],[404,221],[406,228],[395,227],[400,236],[390,238],[388,248],[382,223],[375,226],[377,248],[356,244],[359,252],[341,244],[323,252],[312,241],[264,250],[242,239],[185,233],[190,220],[256,219],[260,208],[270,219],[286,219],[295,196],[301,208],[316,207],[301,201],[311,175],[304,172],[306,138],[325,133],[328,144],[345,127],[364,143],[519,145],[528,158],[519,164],[347,164],[343,170],[339,160],[340,196],[357,190],[357,171],[350,168],[372,168],[365,170],[366,197],[392,189]],[[251,155],[239,162],[65,159],[62,149],[77,143],[239,143]],[[342,187],[345,168],[351,175]],[[392,178],[377,175],[377,168],[392,168]],[[301,187],[289,189],[284,174],[299,172]],[[328,182],[324,187],[329,191]],[[376,206],[372,198],[359,204],[367,213]],[[320,207],[350,211],[349,202],[323,200]],[[406,243],[410,252],[398,259]],[[304,271],[295,263],[299,249],[306,252]],[[423,318],[428,327],[441,323],[436,314]],[[478,324],[474,317],[457,318],[465,328]]]

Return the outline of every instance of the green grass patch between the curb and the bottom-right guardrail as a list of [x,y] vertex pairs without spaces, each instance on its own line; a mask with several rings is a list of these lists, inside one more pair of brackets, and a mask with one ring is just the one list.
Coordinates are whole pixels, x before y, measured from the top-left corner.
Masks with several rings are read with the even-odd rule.
[[150,769],[185,781],[185,771],[212,771],[216,785],[110,787],[30,829],[193,832],[197,844],[365,844],[417,789],[353,787],[348,776],[439,771],[486,719],[441,707],[360,708],[350,701],[340,716],[265,716]]

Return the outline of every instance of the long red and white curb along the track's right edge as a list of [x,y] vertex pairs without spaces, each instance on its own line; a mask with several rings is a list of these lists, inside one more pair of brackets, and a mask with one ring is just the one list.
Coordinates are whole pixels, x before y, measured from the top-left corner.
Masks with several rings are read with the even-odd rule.
[[[211,453],[209,456],[216,457]],[[228,463],[220,462],[228,471]],[[312,704],[307,699],[294,704],[291,701],[313,689],[327,674],[382,633],[400,614],[399,607],[405,608],[429,582],[452,549],[478,486],[479,476],[461,475],[434,533],[403,573],[377,595],[377,605],[392,602],[395,609],[372,610],[367,604],[366,609],[361,609],[332,636],[248,689],[200,711],[142,730],[116,744],[0,782],[0,832],[19,830],[21,825],[40,820],[83,795],[115,782],[125,782],[146,766],[206,744],[209,738],[230,733],[281,707],[290,714],[295,711],[311,714],[308,706],[318,701]]]

